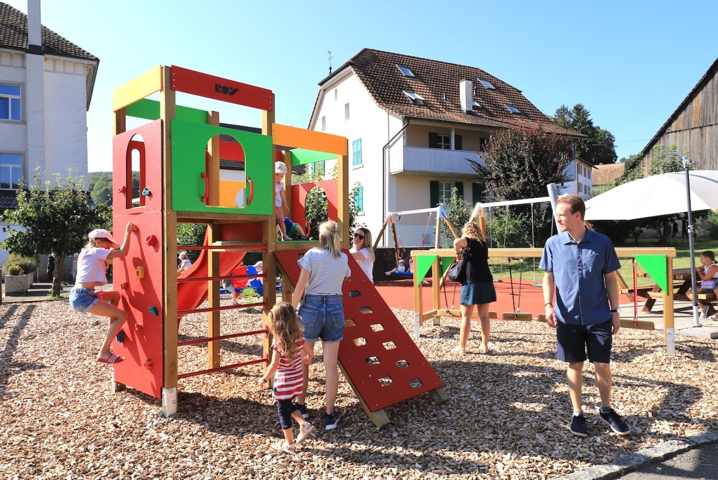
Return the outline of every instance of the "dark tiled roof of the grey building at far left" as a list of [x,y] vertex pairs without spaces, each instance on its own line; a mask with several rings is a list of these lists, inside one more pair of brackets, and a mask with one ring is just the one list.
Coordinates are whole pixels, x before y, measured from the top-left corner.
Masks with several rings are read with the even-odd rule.
[[[100,61],[95,55],[86,52],[44,25],[40,36],[44,53]],[[27,15],[2,2],[0,2],[0,47],[27,52]]]

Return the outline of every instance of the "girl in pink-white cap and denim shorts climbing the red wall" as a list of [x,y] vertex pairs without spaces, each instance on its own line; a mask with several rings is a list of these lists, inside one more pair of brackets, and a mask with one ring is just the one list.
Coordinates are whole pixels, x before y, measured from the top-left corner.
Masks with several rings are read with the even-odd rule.
[[[110,346],[112,345],[113,337],[122,329],[127,314],[117,306],[120,300],[119,292],[106,290],[95,293],[95,287],[107,283],[105,274],[107,270],[106,260],[127,255],[130,246],[130,232],[135,230],[137,230],[137,227],[132,222],[128,222],[120,248],[116,248],[119,244],[110,232],[103,228],[93,230],[88,233],[90,241],[78,255],[78,275],[75,279],[75,286],[70,291],[70,306],[82,314],[89,312],[90,314],[110,318],[110,328],[105,337],[105,342],[97,354],[97,361],[101,363],[119,363],[123,361],[123,357],[110,352]],[[101,299],[103,301],[100,301]]]

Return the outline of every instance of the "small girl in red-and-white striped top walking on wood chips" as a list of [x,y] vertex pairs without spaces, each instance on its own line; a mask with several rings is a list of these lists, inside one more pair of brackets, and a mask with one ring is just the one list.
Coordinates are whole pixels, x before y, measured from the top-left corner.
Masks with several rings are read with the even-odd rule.
[[[304,420],[299,412],[299,406],[292,400],[302,394],[304,379],[302,377],[302,361],[309,364],[314,352],[304,347],[304,329],[299,323],[299,316],[291,303],[280,301],[276,303],[267,316],[269,331],[274,336],[271,349],[274,354],[267,371],[259,380],[263,386],[274,375],[274,388],[272,394],[276,398],[276,411],[279,413],[279,423],[284,431],[284,441],[273,445],[276,450],[294,453],[295,443],[302,442],[314,431],[314,425]],[[292,433],[292,418],[299,423],[299,435],[294,442]]]

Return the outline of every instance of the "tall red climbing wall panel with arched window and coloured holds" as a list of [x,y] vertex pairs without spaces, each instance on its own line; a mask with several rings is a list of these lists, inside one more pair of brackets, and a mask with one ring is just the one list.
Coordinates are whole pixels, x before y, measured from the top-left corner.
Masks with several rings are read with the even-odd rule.
[[[113,288],[129,312],[122,343],[113,352],[126,357],[113,365],[115,380],[159,398],[162,390],[162,121],[154,121],[113,137],[113,236],[121,241],[127,222],[139,229],[129,254],[113,260]],[[132,193],[131,151],[140,171],[139,193]],[[129,172],[128,172],[129,171]],[[124,186],[124,190],[121,187]],[[142,191],[147,189],[147,194]],[[132,199],[141,199],[132,207]],[[139,278],[138,268],[144,270]],[[124,287],[124,288],[122,288]]]

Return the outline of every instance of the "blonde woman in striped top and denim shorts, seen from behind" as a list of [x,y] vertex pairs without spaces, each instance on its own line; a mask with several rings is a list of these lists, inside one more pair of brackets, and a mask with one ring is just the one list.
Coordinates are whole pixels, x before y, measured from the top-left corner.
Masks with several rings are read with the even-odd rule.
[[[332,430],[339,424],[339,415],[334,411],[334,403],[339,387],[337,356],[339,344],[344,338],[342,282],[344,278],[351,276],[351,271],[347,255],[341,250],[337,222],[324,222],[319,226],[319,243],[319,248],[307,250],[297,262],[302,271],[299,273],[292,302],[296,307],[299,300],[302,300],[299,317],[304,325],[304,337],[309,349],[314,351],[314,343],[322,339],[327,392],[324,423],[327,430]],[[302,414],[307,411],[304,399],[307,395],[308,379],[309,369],[304,367],[304,392],[297,399]],[[305,418],[307,416],[305,415]]]

